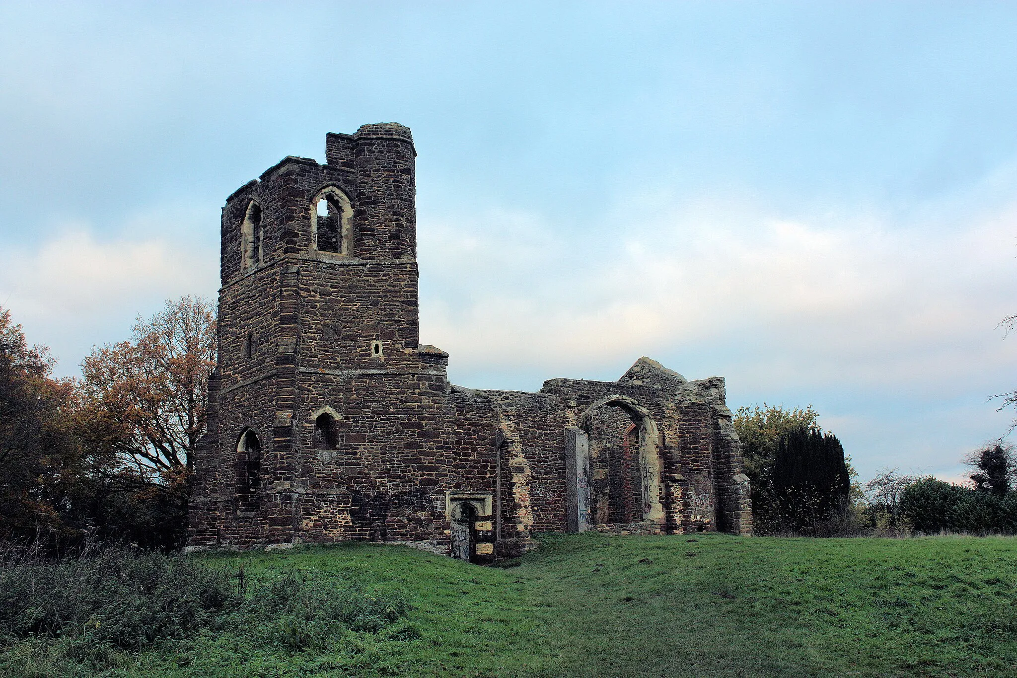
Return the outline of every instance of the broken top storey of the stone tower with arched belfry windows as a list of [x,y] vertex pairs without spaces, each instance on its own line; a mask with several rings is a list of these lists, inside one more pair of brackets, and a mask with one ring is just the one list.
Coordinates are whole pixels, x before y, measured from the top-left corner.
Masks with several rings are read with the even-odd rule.
[[223,207],[223,285],[287,256],[416,258],[416,149],[397,123],[325,135],[325,163],[287,156]]

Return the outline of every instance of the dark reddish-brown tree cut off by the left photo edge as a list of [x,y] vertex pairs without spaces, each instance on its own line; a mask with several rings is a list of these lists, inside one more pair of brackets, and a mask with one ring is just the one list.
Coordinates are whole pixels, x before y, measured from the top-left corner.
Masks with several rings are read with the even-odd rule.
[[73,383],[52,378],[45,347],[28,347],[0,308],[0,538],[63,530],[60,512],[80,471]]

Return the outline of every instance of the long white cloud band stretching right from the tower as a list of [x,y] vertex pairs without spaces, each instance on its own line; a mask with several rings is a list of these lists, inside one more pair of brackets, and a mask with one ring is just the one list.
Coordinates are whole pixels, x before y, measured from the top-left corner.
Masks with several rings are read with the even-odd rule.
[[993,332],[1013,309],[1015,227],[1017,205],[948,230],[768,218],[736,203],[661,213],[623,240],[598,225],[578,246],[535,217],[425,224],[422,276],[436,285],[425,283],[424,340],[467,371],[724,342],[756,359],[772,352],[779,375],[758,365],[764,379],[963,378],[986,361],[1017,364]]

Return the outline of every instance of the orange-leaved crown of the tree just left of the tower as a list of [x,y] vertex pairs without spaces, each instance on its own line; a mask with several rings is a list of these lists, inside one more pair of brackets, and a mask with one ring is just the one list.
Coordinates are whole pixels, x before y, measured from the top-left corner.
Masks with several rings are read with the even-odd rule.
[[154,482],[192,467],[216,348],[213,305],[188,296],[138,318],[129,341],[84,359],[81,431],[107,471]]

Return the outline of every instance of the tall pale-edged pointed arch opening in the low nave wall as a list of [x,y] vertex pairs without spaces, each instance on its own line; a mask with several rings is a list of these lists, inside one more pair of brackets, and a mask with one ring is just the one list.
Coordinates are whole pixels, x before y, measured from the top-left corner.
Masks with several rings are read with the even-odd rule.
[[569,429],[574,460],[576,531],[595,526],[663,525],[660,433],[649,411],[626,395],[592,404]]

